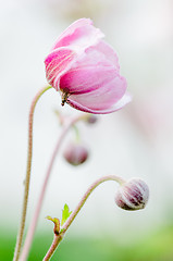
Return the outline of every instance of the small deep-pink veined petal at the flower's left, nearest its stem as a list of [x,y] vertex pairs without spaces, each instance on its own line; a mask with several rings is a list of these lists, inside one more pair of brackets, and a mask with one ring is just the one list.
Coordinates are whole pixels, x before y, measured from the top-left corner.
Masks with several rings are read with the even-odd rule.
[[59,87],[58,82],[60,76],[70,69],[75,58],[76,53],[65,48],[59,48],[46,58],[46,77],[48,83],[55,89]]

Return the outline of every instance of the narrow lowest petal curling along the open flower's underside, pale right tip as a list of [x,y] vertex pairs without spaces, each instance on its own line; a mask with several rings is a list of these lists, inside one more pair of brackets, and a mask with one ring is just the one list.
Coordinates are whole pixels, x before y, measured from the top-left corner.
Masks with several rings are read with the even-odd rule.
[[129,101],[132,100],[132,96],[129,94],[125,94],[121,100],[119,100],[116,103],[112,104],[110,108],[104,109],[104,110],[92,110],[90,108],[84,107],[76,101],[73,101],[71,99],[67,99],[67,103],[73,107],[76,110],[88,112],[88,113],[94,113],[94,114],[107,114],[111,112],[115,112],[120,109],[122,109],[124,105],[126,105]]

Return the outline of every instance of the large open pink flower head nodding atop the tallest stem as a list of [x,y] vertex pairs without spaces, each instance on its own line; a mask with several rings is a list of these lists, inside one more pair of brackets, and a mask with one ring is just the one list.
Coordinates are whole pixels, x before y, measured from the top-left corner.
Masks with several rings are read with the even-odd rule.
[[131,101],[120,75],[116,53],[89,18],[67,27],[45,60],[48,83],[62,96],[62,105],[90,113],[110,113]]

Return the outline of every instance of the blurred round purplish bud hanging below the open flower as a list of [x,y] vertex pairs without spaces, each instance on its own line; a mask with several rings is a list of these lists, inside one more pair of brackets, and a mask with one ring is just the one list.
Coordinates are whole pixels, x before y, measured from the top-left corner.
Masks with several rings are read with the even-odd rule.
[[71,144],[63,153],[64,159],[72,165],[81,165],[88,158],[88,150],[78,144]]

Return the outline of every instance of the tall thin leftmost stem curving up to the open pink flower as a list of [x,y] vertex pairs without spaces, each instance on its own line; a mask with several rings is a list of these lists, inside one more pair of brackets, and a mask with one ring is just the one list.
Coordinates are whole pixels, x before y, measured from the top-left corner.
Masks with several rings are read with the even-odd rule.
[[29,181],[30,181],[30,170],[32,170],[32,156],[33,156],[33,119],[34,119],[34,111],[39,98],[47,91],[48,89],[52,88],[51,86],[46,86],[38,91],[35,96],[29,111],[29,120],[28,120],[28,150],[27,150],[27,167],[26,167],[26,177],[25,177],[25,190],[24,190],[24,199],[23,199],[23,208],[22,208],[22,217],[21,217],[21,225],[18,231],[18,236],[15,246],[15,252],[13,261],[17,261],[20,257],[20,251],[22,247],[22,240],[24,235],[25,228],[25,220],[26,220],[26,211],[27,211],[27,201],[28,201],[28,191],[29,191]]

